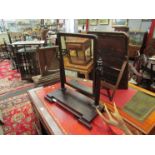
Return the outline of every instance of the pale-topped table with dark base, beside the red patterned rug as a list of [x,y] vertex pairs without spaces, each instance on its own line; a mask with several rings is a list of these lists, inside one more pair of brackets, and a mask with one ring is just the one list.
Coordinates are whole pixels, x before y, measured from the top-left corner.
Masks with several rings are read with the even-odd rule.
[[16,66],[23,80],[32,80],[32,76],[39,74],[36,49],[43,44],[43,40],[18,41],[12,43],[17,57]]

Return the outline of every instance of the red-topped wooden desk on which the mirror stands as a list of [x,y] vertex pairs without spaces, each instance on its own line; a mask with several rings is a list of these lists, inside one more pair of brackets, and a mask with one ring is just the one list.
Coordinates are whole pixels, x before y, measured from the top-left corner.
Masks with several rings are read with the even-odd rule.
[[[85,81],[83,81],[84,83]],[[87,85],[90,86],[91,83]],[[144,91],[145,93],[148,93],[150,95],[154,95],[154,93],[151,93],[145,89],[139,88],[137,86],[134,86],[132,84],[129,84],[129,92],[132,88],[137,89],[139,91]],[[83,125],[81,125],[77,119],[71,115],[66,110],[62,109],[55,103],[49,103],[44,99],[44,96],[56,90],[59,88],[59,84],[55,84],[53,86],[48,86],[46,88],[40,87],[35,88],[29,91],[29,96],[32,100],[32,105],[37,113],[37,116],[43,126],[45,127],[48,134],[113,134],[109,133],[109,130],[106,131],[107,126],[102,122],[101,118],[97,116],[95,120],[92,122],[92,130],[86,129]],[[132,88],[131,88],[132,87]],[[116,95],[118,95],[116,99],[116,105],[119,102],[122,102],[124,98],[128,98],[125,96],[127,95],[127,90],[119,90],[120,92],[116,92]],[[121,92],[124,93],[121,93]],[[101,94],[101,103],[105,103],[107,107],[113,111],[112,104],[106,101],[105,96]],[[123,119],[127,122],[129,128],[132,131],[139,131],[141,134],[154,134],[155,129],[155,112],[152,112],[147,119],[145,119],[144,122],[139,122],[132,116],[125,113],[121,108],[118,108],[119,113],[122,115]],[[117,130],[114,128],[113,130]],[[119,130],[117,130],[115,133],[121,134]]]

